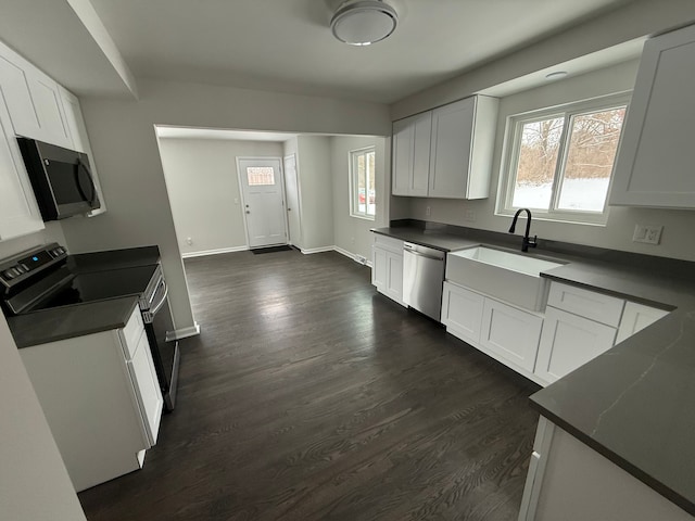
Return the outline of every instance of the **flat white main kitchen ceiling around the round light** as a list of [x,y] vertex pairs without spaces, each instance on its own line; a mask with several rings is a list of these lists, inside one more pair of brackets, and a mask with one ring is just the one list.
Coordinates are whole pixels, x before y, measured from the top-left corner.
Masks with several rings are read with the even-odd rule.
[[390,1],[396,31],[365,48],[332,37],[340,0],[91,3],[136,77],[390,103],[627,0]]

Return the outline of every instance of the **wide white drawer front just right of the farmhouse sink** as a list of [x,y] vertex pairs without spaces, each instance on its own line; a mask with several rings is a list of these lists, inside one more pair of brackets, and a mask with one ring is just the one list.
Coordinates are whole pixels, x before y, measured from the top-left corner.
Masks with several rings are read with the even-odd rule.
[[573,285],[553,282],[547,305],[617,328],[626,301]]

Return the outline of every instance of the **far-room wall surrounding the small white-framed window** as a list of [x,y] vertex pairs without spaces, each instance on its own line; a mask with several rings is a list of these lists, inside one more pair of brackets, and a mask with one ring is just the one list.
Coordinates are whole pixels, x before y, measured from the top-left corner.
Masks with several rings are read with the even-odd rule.
[[[371,259],[370,228],[381,226],[386,220],[384,202],[390,188],[389,162],[386,149],[387,138],[380,137],[339,137],[331,138],[331,170],[333,175],[333,242],[336,246],[352,254]],[[375,220],[352,217],[350,215],[350,151],[375,147],[376,152],[376,204]],[[381,221],[381,223],[379,223]]]

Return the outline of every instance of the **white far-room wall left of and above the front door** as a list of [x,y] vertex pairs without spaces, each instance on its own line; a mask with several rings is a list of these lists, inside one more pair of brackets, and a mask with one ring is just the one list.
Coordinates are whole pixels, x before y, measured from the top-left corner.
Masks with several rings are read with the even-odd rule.
[[160,153],[181,253],[248,247],[236,158],[280,157],[282,144],[160,139]]

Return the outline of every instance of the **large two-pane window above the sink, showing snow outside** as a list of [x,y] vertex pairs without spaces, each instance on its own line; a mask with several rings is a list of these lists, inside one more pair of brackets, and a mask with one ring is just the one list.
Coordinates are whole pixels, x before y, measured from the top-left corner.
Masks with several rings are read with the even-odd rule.
[[542,219],[605,224],[628,101],[622,94],[511,116],[497,214],[530,208]]

